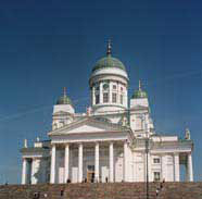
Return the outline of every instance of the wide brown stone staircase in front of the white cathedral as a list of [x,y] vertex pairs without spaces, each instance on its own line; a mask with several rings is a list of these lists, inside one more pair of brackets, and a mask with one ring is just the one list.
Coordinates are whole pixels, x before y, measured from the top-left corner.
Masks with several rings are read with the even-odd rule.
[[[202,183],[150,183],[150,199],[202,199]],[[3,185],[0,199],[146,199],[144,183]]]

